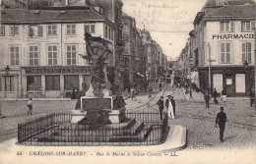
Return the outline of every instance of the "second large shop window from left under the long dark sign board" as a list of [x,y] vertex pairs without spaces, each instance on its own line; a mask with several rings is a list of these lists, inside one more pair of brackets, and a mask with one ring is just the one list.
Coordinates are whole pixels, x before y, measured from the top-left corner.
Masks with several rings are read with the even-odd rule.
[[45,76],[46,90],[60,90],[59,76]]

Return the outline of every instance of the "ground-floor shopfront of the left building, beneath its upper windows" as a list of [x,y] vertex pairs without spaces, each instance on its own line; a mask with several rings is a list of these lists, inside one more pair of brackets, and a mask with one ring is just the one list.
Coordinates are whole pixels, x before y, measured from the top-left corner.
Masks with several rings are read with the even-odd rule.
[[24,67],[1,74],[2,98],[68,98],[90,84],[90,67]]

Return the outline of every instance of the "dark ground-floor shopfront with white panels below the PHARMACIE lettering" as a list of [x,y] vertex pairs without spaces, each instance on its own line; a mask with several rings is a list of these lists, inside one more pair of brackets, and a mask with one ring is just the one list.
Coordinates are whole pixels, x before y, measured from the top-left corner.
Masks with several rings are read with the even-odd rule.
[[[202,89],[208,90],[209,70],[199,68],[199,82]],[[211,88],[216,88],[218,93],[226,90],[227,96],[248,96],[254,88],[254,67],[212,67]]]

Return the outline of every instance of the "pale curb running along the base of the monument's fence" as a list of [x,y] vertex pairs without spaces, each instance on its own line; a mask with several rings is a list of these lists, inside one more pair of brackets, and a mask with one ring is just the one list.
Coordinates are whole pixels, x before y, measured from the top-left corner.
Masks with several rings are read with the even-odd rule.
[[[4,141],[0,143],[0,149],[6,149],[6,151],[10,153],[16,153],[17,149],[27,149],[28,151],[32,151],[34,149],[40,149],[41,151],[48,150],[49,147],[54,151],[61,149],[63,151],[68,151],[70,147],[76,147],[77,150],[83,150],[87,152],[97,152],[101,150],[102,152],[173,152],[182,150],[187,145],[187,130],[182,126],[176,125],[169,125],[170,129],[178,130],[176,136],[174,136],[173,131],[169,131],[166,140],[164,143],[158,145],[127,145],[127,146],[106,146],[106,145],[52,145],[52,146],[45,146],[45,145],[23,145],[17,144],[17,137],[12,138],[10,140]],[[178,138],[177,138],[178,136]],[[175,142],[174,142],[174,141]]]

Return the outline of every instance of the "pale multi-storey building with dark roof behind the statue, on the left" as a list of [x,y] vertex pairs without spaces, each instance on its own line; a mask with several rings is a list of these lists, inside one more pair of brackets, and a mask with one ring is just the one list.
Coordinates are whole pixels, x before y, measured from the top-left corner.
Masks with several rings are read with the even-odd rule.
[[101,36],[111,48],[114,28],[90,8],[2,10],[0,97],[59,98],[81,90],[90,84],[89,62],[80,57],[87,54],[84,33]]

